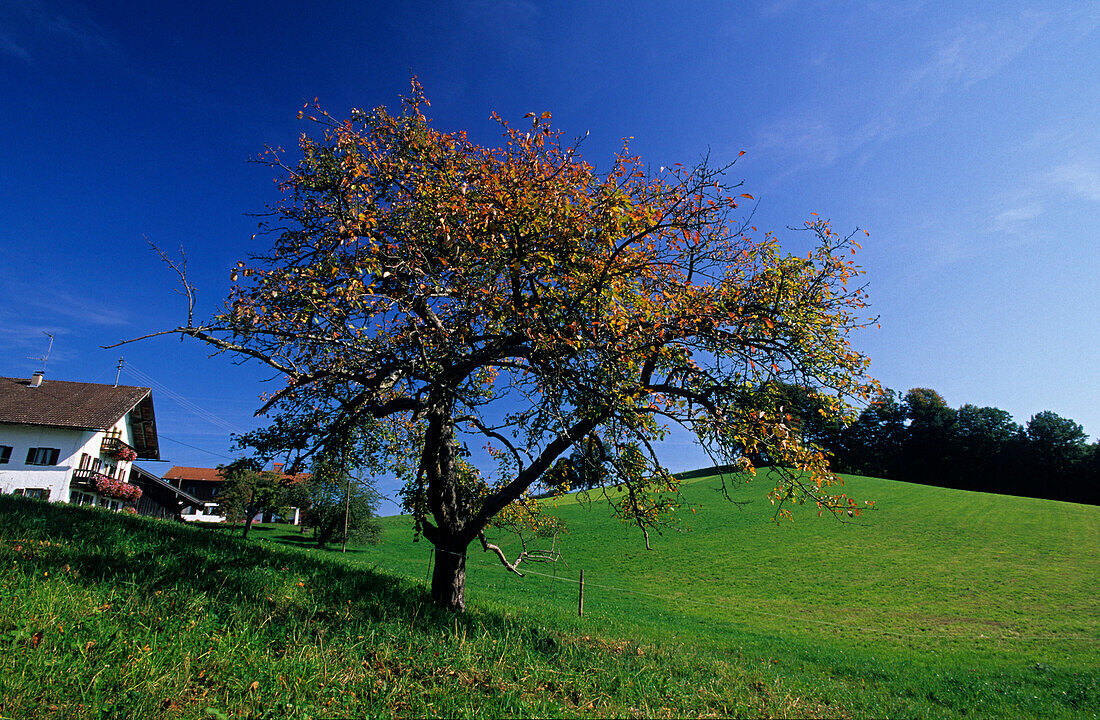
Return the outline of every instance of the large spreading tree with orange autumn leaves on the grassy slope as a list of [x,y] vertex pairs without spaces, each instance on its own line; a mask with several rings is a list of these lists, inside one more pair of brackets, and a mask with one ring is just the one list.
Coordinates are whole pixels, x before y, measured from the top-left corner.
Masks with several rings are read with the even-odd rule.
[[271,250],[239,263],[221,313],[173,332],[285,375],[261,412],[298,429],[301,454],[350,428],[374,439],[439,551],[437,603],[463,607],[471,542],[508,564],[486,527],[527,513],[528,489],[591,436],[623,490],[602,495],[647,544],[676,501],[668,423],[718,463],[751,470],[767,448],[792,468],[769,492],[779,514],[858,512],[778,401],[741,402],[790,380],[827,389],[836,414],[873,388],[847,339],[866,299],[850,235],[814,220],[789,255],[737,219],[751,197],[725,168],[649,173],[624,147],[601,174],[550,113],[497,119],[493,149],[435,130],[427,104],[414,82],[400,114],[307,110],[319,131],[300,159],[267,156],[284,192]]

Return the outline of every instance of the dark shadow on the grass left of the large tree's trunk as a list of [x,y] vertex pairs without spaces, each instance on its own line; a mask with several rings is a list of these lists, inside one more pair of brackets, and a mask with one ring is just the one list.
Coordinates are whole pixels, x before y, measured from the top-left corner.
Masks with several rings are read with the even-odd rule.
[[[89,587],[124,585],[150,601],[177,589],[205,594],[208,611],[223,611],[227,618],[235,607],[258,605],[309,622],[336,624],[340,613],[351,609],[361,621],[396,620],[424,631],[515,634],[519,629],[515,619],[493,611],[440,610],[419,583],[297,547],[243,542],[237,534],[173,521],[0,496],[0,564],[13,554],[21,566],[31,564],[54,575],[64,572]],[[297,583],[312,591],[308,603],[272,597],[279,584]],[[557,652],[557,638],[549,631],[529,627],[524,631],[532,634],[531,646],[547,655]]]

